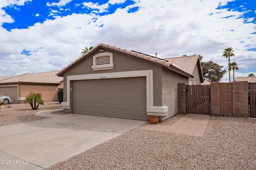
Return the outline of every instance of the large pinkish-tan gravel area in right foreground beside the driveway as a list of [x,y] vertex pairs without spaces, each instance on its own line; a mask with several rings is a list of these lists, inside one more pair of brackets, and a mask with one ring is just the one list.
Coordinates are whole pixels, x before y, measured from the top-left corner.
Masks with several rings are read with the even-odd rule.
[[48,168],[75,169],[255,170],[256,119],[211,117],[203,137],[134,129]]

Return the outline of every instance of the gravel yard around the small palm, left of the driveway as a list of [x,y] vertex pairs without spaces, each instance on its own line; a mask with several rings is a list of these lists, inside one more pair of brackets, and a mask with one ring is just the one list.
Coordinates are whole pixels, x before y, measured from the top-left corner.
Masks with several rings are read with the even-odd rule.
[[20,106],[10,104],[8,106],[11,106],[11,108],[1,106],[0,126],[45,119],[48,117],[37,116],[35,114],[38,111],[61,109],[60,104],[45,104],[44,106],[40,105],[37,110],[32,110],[29,104],[26,104],[25,106],[24,104],[20,104]]

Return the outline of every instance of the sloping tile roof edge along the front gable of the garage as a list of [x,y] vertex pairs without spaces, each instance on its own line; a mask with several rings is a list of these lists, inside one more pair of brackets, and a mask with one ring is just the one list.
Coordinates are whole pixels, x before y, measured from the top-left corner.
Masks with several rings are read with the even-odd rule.
[[[161,64],[162,66],[166,66],[168,68],[170,68],[171,70],[174,70],[176,72],[180,72],[181,74],[184,74],[186,76],[189,76],[189,77],[194,77],[193,75],[193,72],[187,72],[184,68],[176,65],[175,63],[172,63],[170,61],[167,61],[165,59],[160,59],[160,58],[157,58],[157,57],[153,57],[153,56],[150,56],[150,55],[146,55],[146,54],[143,54],[143,53],[139,53],[139,52],[136,52],[136,51],[132,51],[132,50],[127,50],[127,49],[122,49],[120,47],[116,47],[116,46],[113,46],[113,45],[108,45],[108,44],[104,44],[104,43],[100,43],[98,45],[96,45],[95,47],[93,47],[91,50],[89,50],[87,53],[85,53],[84,55],[82,55],[81,57],[79,57],[78,59],[76,59],[74,62],[72,62],[71,64],[69,64],[68,66],[66,66],[65,68],[63,68],[62,70],[60,70],[60,72],[58,72],[57,75],[63,75],[63,73],[68,69],[70,68],[71,66],[73,66],[74,64],[76,64],[78,61],[80,61],[81,59],[83,59],[84,57],[88,56],[92,51],[94,51],[96,48],[105,48],[105,49],[110,49],[110,50],[114,50],[114,51],[118,51],[118,52],[121,52],[121,53],[125,53],[125,54],[128,54],[128,55],[132,55],[134,57],[138,57],[138,58],[141,58],[141,59],[145,59],[145,60],[148,60],[148,61],[151,61],[153,63],[157,63],[157,64]],[[195,66],[194,66],[195,67]],[[193,68],[194,69],[194,68]],[[189,69],[190,70],[190,69]]]

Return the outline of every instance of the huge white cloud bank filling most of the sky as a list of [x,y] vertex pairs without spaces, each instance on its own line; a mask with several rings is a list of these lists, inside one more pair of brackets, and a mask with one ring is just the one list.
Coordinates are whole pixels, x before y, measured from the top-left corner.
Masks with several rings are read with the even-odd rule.
[[[98,15],[114,2],[123,1],[102,5],[83,3],[95,10],[91,14],[60,17],[55,16],[57,11],[52,11],[50,15],[55,16],[55,20],[36,23],[28,29],[8,32],[0,27],[1,63],[8,65],[13,74],[60,70],[80,57],[86,45],[107,43],[153,56],[158,53],[161,58],[198,54],[204,57],[203,61],[212,60],[227,67],[228,61],[221,57],[222,52],[233,47],[235,57],[231,62],[248,68],[248,72],[256,72],[250,70],[255,66],[256,52],[246,51],[256,48],[256,34],[252,34],[256,32],[256,24],[244,23],[242,12],[216,9],[228,0],[187,0],[186,3],[140,0],[113,14]],[[136,6],[138,11],[127,12]],[[12,18],[0,15],[1,21],[12,22]],[[20,60],[23,49],[31,51],[27,66],[13,62]],[[0,72],[10,74],[6,68],[0,68]]]

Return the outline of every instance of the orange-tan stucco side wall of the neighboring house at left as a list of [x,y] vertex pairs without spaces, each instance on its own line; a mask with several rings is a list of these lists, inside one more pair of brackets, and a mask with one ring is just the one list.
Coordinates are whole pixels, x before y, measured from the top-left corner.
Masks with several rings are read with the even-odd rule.
[[[25,98],[30,92],[41,93],[43,100],[58,101],[58,90],[63,88],[63,83],[60,85],[50,84],[19,84],[19,97]],[[19,101],[24,102],[24,101]]]

